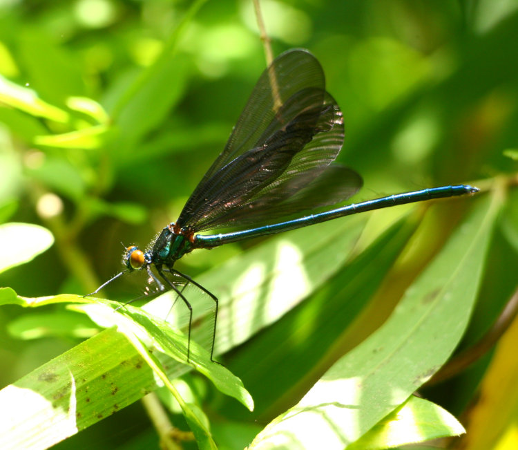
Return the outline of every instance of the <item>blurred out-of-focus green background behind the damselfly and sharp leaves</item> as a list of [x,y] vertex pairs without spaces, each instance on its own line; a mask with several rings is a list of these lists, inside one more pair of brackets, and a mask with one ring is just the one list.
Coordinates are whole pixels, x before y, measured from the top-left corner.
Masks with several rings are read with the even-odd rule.
[[[198,2],[195,11],[192,4],[0,0],[0,221],[43,225],[55,237],[55,244],[36,259],[3,272],[0,285],[29,297],[91,292],[120,270],[121,243],[144,247],[178,216],[224,147],[265,68],[251,1]],[[338,160],[365,180],[354,200],[515,174],[516,1],[261,5],[275,55],[308,48],[324,68],[327,90],[345,118],[345,145]],[[186,16],[191,12],[195,14]],[[46,102],[39,113],[37,102],[32,111],[16,107],[13,97],[28,95],[23,88]],[[71,103],[70,97],[94,100],[106,113],[94,102]],[[481,187],[490,189],[490,182]],[[510,195],[490,250],[481,294],[485,301],[474,314],[470,339],[487,330],[515,288],[518,213],[516,195]],[[456,214],[452,207],[436,226],[448,230],[458,220]],[[178,269],[196,276],[254,244],[195,252]],[[139,286],[131,280],[114,283],[107,295],[131,298]],[[8,324],[29,313],[2,308],[0,321]],[[3,325],[1,385],[59,355],[80,337],[85,336],[64,332],[22,341]],[[245,344],[229,357],[230,368],[232,361],[239,365],[240,352],[246,351]],[[452,395],[455,385],[429,395],[460,414],[474,397],[484,364],[461,382],[459,395]],[[248,375],[260,386],[261,373]],[[256,402],[261,389],[268,388],[252,391]],[[214,409],[221,406],[224,426],[219,433],[238,435],[242,429],[229,430],[231,422],[224,417],[238,420],[242,410],[233,409],[240,406],[228,406],[230,401],[218,395],[210,400]],[[244,420],[251,436],[260,429],[254,418],[265,424],[276,411],[269,409],[271,404],[258,404],[255,415]],[[82,448],[114,448],[124,442],[125,448],[142,448],[142,442],[153,438],[135,404],[60,448],[77,447],[78,442]]]

